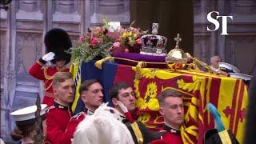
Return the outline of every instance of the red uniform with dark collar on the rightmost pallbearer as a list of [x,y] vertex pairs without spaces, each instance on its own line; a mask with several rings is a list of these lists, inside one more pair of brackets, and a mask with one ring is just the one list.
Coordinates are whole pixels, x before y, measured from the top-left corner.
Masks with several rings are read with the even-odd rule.
[[182,136],[179,130],[176,130],[170,126],[164,124],[162,129],[166,131],[165,134],[162,135],[161,139],[154,140],[152,144],[182,144]]

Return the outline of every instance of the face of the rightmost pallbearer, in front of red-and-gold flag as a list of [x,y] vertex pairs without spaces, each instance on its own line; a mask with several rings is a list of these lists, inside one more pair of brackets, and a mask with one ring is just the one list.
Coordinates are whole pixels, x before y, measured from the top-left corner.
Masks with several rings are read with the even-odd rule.
[[160,107],[160,114],[162,114],[165,122],[170,126],[178,129],[184,120],[184,109],[182,98],[167,97],[164,100],[164,105]]

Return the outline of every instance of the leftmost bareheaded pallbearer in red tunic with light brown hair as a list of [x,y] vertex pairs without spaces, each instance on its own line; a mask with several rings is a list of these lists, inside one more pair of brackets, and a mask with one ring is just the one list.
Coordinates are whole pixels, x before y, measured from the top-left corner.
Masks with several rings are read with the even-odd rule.
[[62,72],[54,75],[53,90],[54,105],[50,106],[46,114],[46,142],[52,144],[70,143],[73,130],[69,126],[72,112],[70,104],[74,101],[74,81],[70,73]]

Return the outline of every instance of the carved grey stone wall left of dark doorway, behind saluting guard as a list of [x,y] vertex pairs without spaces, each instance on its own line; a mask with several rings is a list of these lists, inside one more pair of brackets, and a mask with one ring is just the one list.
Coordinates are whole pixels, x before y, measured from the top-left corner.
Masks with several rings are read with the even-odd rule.
[[0,11],[1,138],[10,140],[14,120],[10,112],[35,103],[43,85],[28,74],[45,52],[43,35],[51,28],[70,34],[73,46],[86,27],[110,21],[130,22],[129,0],[13,0]]

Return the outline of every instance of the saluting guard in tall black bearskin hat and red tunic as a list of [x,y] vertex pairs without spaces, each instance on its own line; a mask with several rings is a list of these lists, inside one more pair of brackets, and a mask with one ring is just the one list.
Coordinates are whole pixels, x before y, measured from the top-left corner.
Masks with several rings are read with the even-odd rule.
[[[30,75],[42,80],[45,83],[45,97],[42,103],[52,106],[54,104],[54,92],[52,80],[57,72],[68,72],[66,64],[70,62],[71,55],[66,54],[72,46],[69,35],[65,30],[52,29],[44,38],[47,54],[42,56],[33,66],[30,67]],[[45,66],[46,62],[52,62],[55,66]]]

